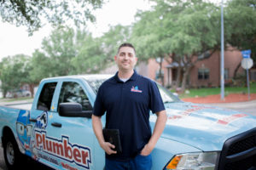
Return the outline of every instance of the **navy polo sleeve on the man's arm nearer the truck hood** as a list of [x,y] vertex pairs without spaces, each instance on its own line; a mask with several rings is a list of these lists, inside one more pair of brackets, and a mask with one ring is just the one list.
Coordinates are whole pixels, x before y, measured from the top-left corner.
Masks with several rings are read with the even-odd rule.
[[155,82],[150,83],[149,94],[149,109],[153,113],[166,110],[163,100],[160,96],[159,88]]

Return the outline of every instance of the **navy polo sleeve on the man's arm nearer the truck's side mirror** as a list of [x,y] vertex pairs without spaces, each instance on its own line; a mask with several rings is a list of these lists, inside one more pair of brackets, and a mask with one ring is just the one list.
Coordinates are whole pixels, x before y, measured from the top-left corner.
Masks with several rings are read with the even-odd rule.
[[103,98],[103,90],[102,90],[102,86],[101,86],[98,90],[98,93],[96,95],[96,100],[95,100],[94,106],[93,106],[92,114],[94,116],[102,116],[102,115],[104,115],[104,113],[106,111],[102,98]]

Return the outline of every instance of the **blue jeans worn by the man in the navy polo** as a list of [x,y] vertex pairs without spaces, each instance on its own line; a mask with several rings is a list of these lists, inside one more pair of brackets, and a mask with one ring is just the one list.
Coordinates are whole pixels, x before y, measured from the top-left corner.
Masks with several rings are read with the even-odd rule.
[[152,157],[137,155],[130,161],[113,161],[106,158],[105,170],[150,170]]

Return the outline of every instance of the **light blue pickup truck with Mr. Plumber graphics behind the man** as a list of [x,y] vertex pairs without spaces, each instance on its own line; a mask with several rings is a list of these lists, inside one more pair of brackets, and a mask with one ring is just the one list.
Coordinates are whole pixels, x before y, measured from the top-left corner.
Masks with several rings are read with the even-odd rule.
[[[7,167],[18,169],[22,158],[29,156],[53,169],[104,169],[104,150],[93,133],[91,114],[97,89],[109,77],[46,78],[31,108],[1,106],[0,136]],[[168,120],[152,151],[152,169],[256,169],[255,116],[186,103],[158,87]],[[150,114],[153,129],[156,116]]]

